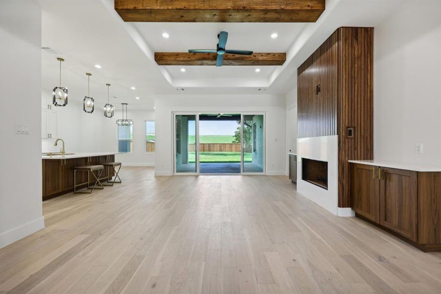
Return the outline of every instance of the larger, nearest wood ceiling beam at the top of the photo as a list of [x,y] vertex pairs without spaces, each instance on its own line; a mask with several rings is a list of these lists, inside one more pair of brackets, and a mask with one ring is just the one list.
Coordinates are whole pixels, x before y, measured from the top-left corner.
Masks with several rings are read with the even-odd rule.
[[325,0],[115,0],[125,22],[314,23]]

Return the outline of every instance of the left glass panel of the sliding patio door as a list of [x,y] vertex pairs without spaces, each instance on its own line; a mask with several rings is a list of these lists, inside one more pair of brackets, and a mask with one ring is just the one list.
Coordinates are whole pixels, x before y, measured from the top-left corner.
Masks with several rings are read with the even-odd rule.
[[198,172],[196,115],[175,115],[176,172]]

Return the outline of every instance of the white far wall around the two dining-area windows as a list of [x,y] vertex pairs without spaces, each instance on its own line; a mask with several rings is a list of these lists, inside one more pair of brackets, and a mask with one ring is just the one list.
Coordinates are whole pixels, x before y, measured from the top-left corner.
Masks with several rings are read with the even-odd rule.
[[[116,119],[119,119],[121,111],[115,115]],[[133,150],[132,153],[117,154],[115,160],[125,166],[154,166],[155,153],[145,152],[145,121],[154,121],[155,112],[145,109],[129,110],[128,117],[133,120]]]

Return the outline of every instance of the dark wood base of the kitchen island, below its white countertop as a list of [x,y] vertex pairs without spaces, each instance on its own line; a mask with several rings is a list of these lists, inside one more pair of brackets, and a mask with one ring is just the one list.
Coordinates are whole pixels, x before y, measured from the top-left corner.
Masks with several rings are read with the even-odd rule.
[[[90,156],[70,159],[43,159],[43,200],[66,194],[73,191],[74,167],[94,165],[104,162],[114,162],[115,155]],[[107,175],[107,179],[114,176],[114,172],[109,170],[109,174],[104,168],[102,178]],[[98,174],[96,173],[96,176]],[[87,172],[77,172],[77,184],[87,183]],[[105,179],[104,179],[105,181]],[[90,184],[94,184],[95,179],[90,176]],[[84,187],[86,184],[84,184]],[[81,187],[80,187],[81,188]]]

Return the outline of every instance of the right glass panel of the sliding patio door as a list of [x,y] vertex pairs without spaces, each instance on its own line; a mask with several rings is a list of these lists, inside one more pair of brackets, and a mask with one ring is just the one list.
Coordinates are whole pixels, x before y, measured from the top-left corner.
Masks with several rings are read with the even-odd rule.
[[264,115],[244,114],[242,123],[243,172],[263,172],[265,165]]

